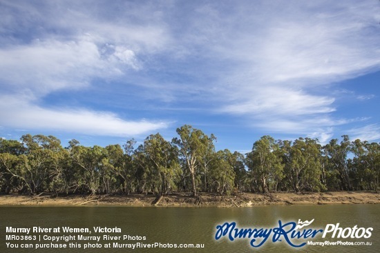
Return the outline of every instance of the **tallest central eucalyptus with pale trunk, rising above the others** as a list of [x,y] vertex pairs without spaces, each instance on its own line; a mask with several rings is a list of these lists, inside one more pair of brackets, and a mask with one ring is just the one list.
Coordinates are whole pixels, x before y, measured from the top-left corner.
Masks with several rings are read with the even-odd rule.
[[191,176],[193,196],[197,196],[196,174],[198,173],[198,167],[215,137],[213,134],[209,137],[201,130],[191,127],[191,125],[183,125],[181,128],[177,128],[176,132],[180,138],[174,138],[172,143],[179,148],[180,156],[184,159],[186,168]]

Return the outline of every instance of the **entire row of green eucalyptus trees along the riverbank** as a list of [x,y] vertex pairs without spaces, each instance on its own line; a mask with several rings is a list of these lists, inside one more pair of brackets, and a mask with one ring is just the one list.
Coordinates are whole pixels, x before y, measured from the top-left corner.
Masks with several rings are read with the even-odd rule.
[[151,134],[135,148],[86,147],[55,136],[0,139],[0,192],[9,194],[130,194],[131,192],[319,192],[379,190],[379,143],[359,139],[275,140],[263,136],[251,152],[216,151],[216,137],[183,125],[165,140]]

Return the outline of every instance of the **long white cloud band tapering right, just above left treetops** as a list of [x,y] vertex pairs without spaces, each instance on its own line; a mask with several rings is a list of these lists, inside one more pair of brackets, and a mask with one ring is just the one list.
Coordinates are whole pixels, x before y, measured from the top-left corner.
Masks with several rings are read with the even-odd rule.
[[28,97],[0,96],[1,125],[32,130],[55,130],[98,136],[135,136],[167,128],[164,121],[146,119],[128,121],[112,112],[73,108],[41,108]]

